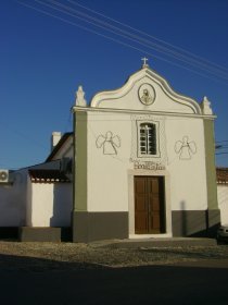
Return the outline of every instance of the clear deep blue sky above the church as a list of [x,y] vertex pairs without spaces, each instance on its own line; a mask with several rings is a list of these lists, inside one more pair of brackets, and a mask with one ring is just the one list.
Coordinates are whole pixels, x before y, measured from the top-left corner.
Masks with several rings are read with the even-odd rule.
[[[73,16],[76,10],[84,21]],[[85,14],[147,44],[86,23]],[[0,168],[42,162],[51,133],[72,131],[78,85],[90,101],[97,91],[122,86],[144,56],[176,91],[199,102],[207,96],[224,145],[218,152],[228,151],[228,0],[0,0]],[[228,167],[228,155],[216,162]]]

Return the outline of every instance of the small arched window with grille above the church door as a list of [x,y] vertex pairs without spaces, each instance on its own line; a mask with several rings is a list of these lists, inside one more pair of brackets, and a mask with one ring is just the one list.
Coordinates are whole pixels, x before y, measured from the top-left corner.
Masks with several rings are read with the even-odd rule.
[[139,149],[140,155],[154,156],[156,151],[156,125],[152,123],[141,123],[139,125]]

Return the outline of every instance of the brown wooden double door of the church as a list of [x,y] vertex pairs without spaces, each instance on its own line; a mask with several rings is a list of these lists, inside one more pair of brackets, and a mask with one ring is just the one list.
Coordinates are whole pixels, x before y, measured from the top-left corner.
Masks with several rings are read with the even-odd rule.
[[135,176],[135,233],[165,232],[163,176]]

